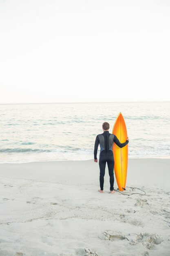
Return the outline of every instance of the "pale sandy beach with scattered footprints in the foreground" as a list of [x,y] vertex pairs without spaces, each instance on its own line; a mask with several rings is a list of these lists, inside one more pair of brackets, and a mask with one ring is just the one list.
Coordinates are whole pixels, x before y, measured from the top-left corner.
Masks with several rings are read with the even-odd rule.
[[0,164],[0,256],[168,256],[169,181],[166,158],[129,159],[124,195],[93,160]]

